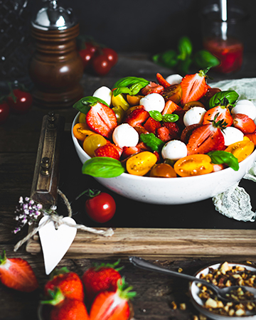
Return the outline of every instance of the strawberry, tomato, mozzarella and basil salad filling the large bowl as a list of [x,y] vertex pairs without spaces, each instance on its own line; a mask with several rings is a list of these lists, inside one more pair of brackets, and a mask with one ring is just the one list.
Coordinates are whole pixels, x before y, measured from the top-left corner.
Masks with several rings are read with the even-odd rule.
[[256,107],[235,90],[208,85],[208,71],[126,77],[73,107],[73,134],[91,157],[82,172],[110,178],[198,176],[235,171],[256,143]]

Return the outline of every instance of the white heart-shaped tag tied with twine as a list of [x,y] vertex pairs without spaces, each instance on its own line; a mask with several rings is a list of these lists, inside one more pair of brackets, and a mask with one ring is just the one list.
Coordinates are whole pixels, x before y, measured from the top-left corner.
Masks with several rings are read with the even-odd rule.
[[[40,226],[48,219],[50,219],[50,217],[45,215],[38,225]],[[63,218],[63,221],[76,225],[75,220],[70,217]],[[50,274],[68,251],[68,248],[75,239],[77,228],[70,227],[63,223],[58,227],[58,230],[56,230],[53,221],[49,221],[39,229],[38,233],[43,250],[46,274]]]

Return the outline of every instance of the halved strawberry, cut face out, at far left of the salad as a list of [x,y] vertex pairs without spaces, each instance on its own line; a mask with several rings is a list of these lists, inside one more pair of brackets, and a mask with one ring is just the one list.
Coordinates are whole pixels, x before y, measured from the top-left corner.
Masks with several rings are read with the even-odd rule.
[[117,127],[117,117],[110,107],[97,102],[87,112],[85,119],[87,126],[94,132],[102,134],[107,139],[112,138],[112,132]]

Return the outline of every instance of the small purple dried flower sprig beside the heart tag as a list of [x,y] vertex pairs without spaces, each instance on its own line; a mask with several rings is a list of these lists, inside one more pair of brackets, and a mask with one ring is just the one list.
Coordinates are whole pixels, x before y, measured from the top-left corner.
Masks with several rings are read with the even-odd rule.
[[18,206],[16,206],[16,213],[15,220],[17,221],[17,226],[14,229],[14,233],[18,233],[26,224],[32,225],[35,222],[41,213],[50,214],[55,211],[56,207],[52,206],[50,208],[50,212],[43,209],[41,203],[37,203],[36,201],[32,200],[31,198],[23,198],[20,197],[18,200]]

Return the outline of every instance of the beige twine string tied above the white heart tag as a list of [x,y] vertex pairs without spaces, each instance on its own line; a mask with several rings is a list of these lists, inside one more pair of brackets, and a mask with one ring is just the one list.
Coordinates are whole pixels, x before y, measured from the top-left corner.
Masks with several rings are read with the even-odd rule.
[[[63,198],[63,201],[68,209],[68,217],[71,218],[72,217],[72,208],[70,206],[70,203],[68,202],[68,198],[59,189],[57,191],[58,191],[58,194]],[[60,225],[64,224],[64,225],[68,225],[69,227],[76,228],[77,230],[86,231],[88,233],[94,233],[95,235],[102,235],[104,237],[111,237],[112,235],[114,235],[114,231],[112,228],[108,228],[107,230],[97,230],[95,228],[87,227],[86,225],[77,225],[77,224],[74,225],[72,223],[68,223],[68,221],[63,220],[63,215],[58,215],[56,213],[50,214],[50,215],[48,215],[48,217],[49,218],[47,220],[45,220],[43,223],[41,223],[41,225],[38,225],[38,227],[34,228],[30,233],[28,233],[28,235],[26,235],[25,238],[23,238],[22,240],[20,240],[16,243],[16,245],[14,246],[15,252],[18,250],[19,247],[21,247],[21,245],[23,245],[26,241],[28,241],[34,235],[36,235],[36,233],[38,233],[38,231],[41,228],[43,228],[50,221],[53,221],[53,223],[55,225],[55,229],[58,229],[60,227]]]

